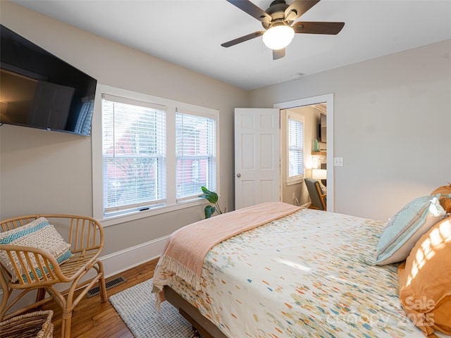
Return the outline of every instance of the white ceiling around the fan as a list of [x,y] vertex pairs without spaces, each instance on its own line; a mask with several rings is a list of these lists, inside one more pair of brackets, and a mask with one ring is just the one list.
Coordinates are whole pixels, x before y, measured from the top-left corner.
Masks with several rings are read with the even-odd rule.
[[298,20],[342,21],[342,31],[297,34],[276,61],[261,37],[221,46],[263,28],[226,0],[12,2],[242,89],[451,39],[451,0],[322,0]]

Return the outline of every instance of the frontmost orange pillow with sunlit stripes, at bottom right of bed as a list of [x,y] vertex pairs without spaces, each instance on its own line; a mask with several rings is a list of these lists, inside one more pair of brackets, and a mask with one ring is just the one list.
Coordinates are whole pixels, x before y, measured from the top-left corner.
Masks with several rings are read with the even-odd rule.
[[407,317],[429,337],[451,334],[451,216],[426,232],[398,268]]

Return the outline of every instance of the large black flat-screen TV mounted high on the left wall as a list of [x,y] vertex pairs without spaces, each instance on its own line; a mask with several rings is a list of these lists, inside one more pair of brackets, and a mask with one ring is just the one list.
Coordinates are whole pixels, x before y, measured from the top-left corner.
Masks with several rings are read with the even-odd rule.
[[0,26],[0,123],[89,136],[97,80]]

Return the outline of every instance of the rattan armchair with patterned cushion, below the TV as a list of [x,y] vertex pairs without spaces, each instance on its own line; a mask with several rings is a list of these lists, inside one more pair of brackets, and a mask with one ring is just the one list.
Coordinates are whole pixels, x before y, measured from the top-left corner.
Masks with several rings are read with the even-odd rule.
[[[68,231],[67,238],[56,228]],[[99,260],[103,247],[103,227],[87,216],[46,214],[1,220],[0,321],[54,300],[63,311],[61,337],[69,338],[73,308],[89,289],[98,283],[101,301],[108,300],[104,268]],[[34,303],[18,310],[18,305],[13,308],[34,290]],[[75,290],[81,291],[75,295]]]

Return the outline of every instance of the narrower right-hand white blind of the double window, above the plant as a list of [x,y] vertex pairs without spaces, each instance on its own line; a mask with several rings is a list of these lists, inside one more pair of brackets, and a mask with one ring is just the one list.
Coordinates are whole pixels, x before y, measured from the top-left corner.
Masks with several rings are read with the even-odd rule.
[[216,189],[216,121],[200,115],[175,114],[178,201]]

